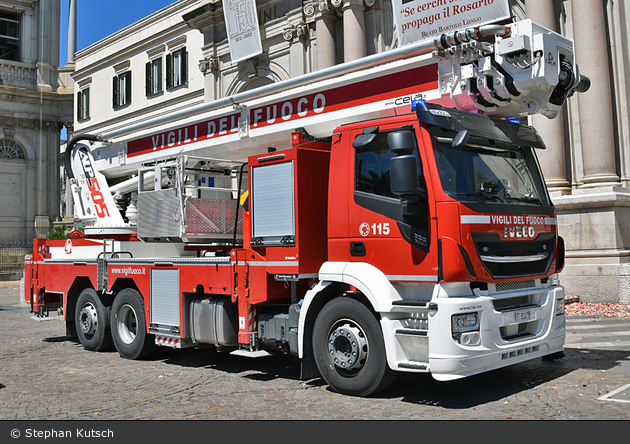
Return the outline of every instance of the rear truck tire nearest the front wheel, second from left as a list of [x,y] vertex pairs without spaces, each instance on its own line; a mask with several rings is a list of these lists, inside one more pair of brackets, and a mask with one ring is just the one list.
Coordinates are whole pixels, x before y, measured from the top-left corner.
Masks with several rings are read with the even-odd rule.
[[112,338],[121,357],[144,359],[157,350],[146,326],[142,295],[132,288],[121,290],[114,299],[111,317]]

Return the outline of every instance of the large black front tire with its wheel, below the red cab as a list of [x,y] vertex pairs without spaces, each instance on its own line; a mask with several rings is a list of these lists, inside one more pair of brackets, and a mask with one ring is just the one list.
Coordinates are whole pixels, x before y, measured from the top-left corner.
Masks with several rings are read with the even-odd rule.
[[313,354],[320,375],[336,392],[370,396],[396,379],[387,365],[376,316],[348,297],[328,302],[315,319]]

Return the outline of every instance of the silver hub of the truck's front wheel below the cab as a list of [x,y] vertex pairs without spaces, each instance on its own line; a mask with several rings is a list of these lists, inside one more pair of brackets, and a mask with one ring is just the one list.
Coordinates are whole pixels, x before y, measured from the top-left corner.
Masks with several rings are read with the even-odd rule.
[[359,326],[349,321],[337,323],[328,336],[328,353],[338,368],[361,370],[368,354],[365,333]]

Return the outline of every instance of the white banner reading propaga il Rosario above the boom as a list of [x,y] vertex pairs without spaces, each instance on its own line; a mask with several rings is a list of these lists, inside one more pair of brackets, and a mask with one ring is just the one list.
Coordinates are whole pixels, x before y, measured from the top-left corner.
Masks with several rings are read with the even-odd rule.
[[510,17],[508,0],[393,0],[400,46]]

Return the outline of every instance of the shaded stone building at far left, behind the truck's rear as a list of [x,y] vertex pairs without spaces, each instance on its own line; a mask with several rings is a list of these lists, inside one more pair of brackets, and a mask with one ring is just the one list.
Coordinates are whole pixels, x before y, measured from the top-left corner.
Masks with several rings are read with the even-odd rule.
[[59,0],[0,1],[0,244],[32,242],[59,217],[59,140],[72,123],[59,23]]

